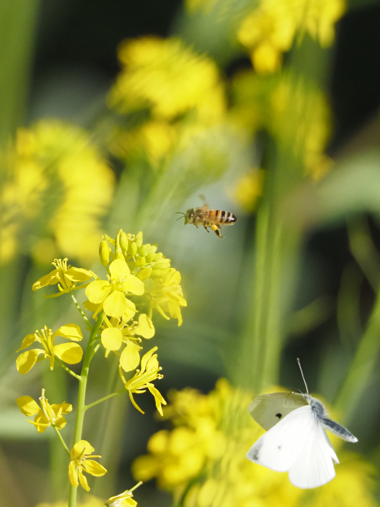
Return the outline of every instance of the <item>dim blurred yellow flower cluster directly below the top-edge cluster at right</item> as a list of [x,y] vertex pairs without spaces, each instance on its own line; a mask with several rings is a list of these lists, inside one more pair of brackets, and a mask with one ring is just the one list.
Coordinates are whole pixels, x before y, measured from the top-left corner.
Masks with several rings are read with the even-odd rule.
[[330,113],[321,90],[290,73],[263,78],[253,71],[239,74],[233,87],[230,119],[235,125],[253,132],[267,130],[316,180],[329,170],[332,161],[324,149]]

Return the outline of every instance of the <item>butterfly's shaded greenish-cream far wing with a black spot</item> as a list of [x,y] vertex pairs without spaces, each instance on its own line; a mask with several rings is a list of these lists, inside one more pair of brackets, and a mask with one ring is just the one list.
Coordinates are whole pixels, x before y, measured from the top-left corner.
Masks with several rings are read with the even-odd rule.
[[248,405],[248,412],[264,429],[269,430],[295,409],[308,405],[308,402],[296,392],[271,392],[257,396]]

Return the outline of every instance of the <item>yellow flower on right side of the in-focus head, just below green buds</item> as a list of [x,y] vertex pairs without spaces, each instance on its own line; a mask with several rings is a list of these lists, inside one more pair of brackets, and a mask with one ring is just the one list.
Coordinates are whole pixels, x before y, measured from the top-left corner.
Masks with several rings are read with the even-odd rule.
[[154,282],[151,280],[145,282],[151,308],[156,308],[167,320],[169,317],[165,312],[169,312],[170,317],[178,319],[178,325],[182,324],[180,306],[187,306],[179,285],[180,281],[179,271],[170,268],[162,278],[157,278]]

